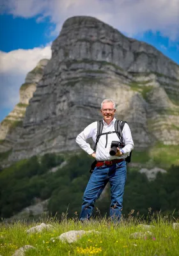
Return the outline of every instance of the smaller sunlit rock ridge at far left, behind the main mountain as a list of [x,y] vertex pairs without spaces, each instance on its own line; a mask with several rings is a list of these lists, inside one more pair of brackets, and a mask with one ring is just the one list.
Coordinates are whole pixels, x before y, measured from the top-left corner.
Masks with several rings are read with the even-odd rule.
[[20,102],[0,124],[0,152],[10,150],[19,140],[22,133],[22,124],[29,100],[33,97],[36,84],[42,79],[43,68],[49,60],[40,60],[37,66],[27,74],[26,81],[20,87]]

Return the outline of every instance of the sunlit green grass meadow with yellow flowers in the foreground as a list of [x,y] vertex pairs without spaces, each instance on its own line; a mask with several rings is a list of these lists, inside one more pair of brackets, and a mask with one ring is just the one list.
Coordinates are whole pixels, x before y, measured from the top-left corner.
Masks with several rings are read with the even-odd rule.
[[[130,235],[134,232],[146,232],[139,224],[144,223],[139,218],[130,216],[127,220],[121,220],[120,225],[114,226],[107,219],[92,220],[81,223],[73,219],[46,220],[45,224],[54,226],[52,230],[44,230],[40,233],[27,234],[26,230],[42,223],[0,224],[0,253],[3,256],[12,255],[18,248],[29,244],[36,249],[26,252],[26,255],[167,255],[176,256],[179,251],[179,230],[173,229],[175,220],[167,216],[151,218],[151,236],[134,239]],[[147,223],[144,223],[147,224]],[[62,242],[55,237],[70,230],[97,230],[100,234],[84,234],[74,243]],[[51,238],[54,238],[51,240]],[[86,251],[86,252],[85,252]]]

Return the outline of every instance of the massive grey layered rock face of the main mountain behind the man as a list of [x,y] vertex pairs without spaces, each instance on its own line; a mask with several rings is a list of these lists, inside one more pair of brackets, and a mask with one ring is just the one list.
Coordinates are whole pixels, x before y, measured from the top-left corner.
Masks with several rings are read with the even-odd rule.
[[78,149],[75,137],[101,118],[105,98],[116,102],[116,118],[127,120],[136,148],[179,143],[178,65],[100,20],[66,20],[42,79],[30,73],[26,83],[37,83],[36,91],[8,161]]

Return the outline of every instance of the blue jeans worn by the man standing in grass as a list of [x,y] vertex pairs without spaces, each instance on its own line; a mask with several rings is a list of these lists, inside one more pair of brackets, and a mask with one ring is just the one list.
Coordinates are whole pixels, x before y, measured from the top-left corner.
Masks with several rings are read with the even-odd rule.
[[112,220],[120,221],[126,173],[125,161],[111,166],[95,167],[82,198],[81,221],[89,220],[93,212],[95,200],[101,195],[107,182],[111,186],[110,217]]

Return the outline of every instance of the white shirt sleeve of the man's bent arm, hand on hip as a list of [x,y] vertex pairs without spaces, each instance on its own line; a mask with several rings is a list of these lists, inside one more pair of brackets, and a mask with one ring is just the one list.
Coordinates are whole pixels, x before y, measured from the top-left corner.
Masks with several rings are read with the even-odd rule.
[[89,155],[91,155],[94,150],[91,148],[89,143],[86,142],[86,140],[93,136],[95,127],[97,127],[97,122],[89,124],[76,138],[76,143],[79,145],[79,147],[81,147]]

